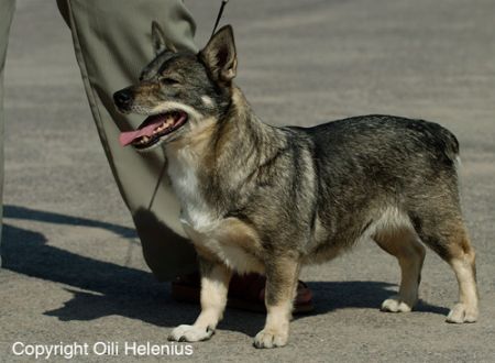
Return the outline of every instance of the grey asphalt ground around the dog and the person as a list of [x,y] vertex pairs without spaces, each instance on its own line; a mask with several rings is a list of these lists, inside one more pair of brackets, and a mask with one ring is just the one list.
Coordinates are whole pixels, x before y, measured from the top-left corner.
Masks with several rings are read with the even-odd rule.
[[[219,1],[187,3],[204,44]],[[475,324],[444,322],[457,283],[431,252],[416,311],[380,312],[399,272],[370,242],[304,272],[316,311],[292,323],[286,348],[255,350],[252,339],[264,317],[229,310],[213,340],[195,343],[189,359],[495,362],[494,19],[494,0],[229,3],[224,22],[235,29],[238,84],[266,122],[309,125],[392,113],[438,121],[459,136],[481,318]],[[198,307],[174,302],[167,284],[157,283],[143,262],[53,1],[19,1],[6,86],[0,362],[28,360],[12,354],[16,341],[165,343],[172,327],[190,323]],[[136,359],[121,351],[78,361]]]

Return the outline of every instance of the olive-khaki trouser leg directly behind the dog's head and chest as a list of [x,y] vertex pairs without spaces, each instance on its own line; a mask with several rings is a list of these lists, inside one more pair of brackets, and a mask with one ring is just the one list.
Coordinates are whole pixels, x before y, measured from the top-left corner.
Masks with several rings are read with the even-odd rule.
[[[120,193],[129,207],[143,254],[158,279],[197,270],[196,255],[178,220],[161,152],[139,154],[120,146],[119,133],[142,117],[117,112],[112,95],[136,81],[153,58],[151,23],[174,43],[195,50],[195,23],[179,0],[57,0],[70,26],[86,94]],[[179,234],[178,234],[179,233]],[[184,234],[183,234],[184,235]]]

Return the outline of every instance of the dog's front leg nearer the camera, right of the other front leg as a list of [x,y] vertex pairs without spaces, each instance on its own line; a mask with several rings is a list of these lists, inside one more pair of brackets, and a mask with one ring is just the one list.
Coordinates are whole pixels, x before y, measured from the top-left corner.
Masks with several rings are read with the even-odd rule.
[[296,296],[299,263],[294,258],[274,258],[266,266],[266,322],[254,338],[256,348],[287,344],[293,302]]

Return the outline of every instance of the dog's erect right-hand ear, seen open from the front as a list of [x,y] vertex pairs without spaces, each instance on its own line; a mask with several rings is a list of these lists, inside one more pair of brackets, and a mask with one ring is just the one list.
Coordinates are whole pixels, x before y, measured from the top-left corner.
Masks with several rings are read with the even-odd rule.
[[199,55],[216,80],[231,81],[238,67],[232,26],[226,25],[220,29]]

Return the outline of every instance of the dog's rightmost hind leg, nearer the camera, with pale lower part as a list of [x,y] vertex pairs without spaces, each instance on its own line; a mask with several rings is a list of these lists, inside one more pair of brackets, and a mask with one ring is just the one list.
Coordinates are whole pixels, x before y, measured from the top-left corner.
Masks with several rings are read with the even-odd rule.
[[429,210],[416,215],[415,228],[421,240],[455,273],[459,302],[447,316],[448,322],[474,322],[479,316],[475,253],[459,209]]

